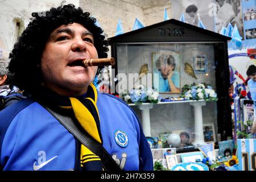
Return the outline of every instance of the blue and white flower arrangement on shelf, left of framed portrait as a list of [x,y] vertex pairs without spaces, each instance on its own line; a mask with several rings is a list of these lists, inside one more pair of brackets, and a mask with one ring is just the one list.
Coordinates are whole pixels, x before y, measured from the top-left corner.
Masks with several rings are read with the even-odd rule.
[[135,89],[131,89],[129,93],[122,93],[121,98],[128,104],[144,102],[157,103],[159,93],[155,92],[152,88],[145,88],[143,85],[138,85]]

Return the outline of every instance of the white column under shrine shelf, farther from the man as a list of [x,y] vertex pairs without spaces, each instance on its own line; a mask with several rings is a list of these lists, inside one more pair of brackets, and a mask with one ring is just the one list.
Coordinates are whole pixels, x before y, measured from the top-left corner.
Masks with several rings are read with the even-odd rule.
[[196,147],[203,146],[207,144],[204,142],[204,130],[203,130],[203,113],[202,106],[206,103],[205,101],[196,101],[190,102],[190,105],[194,107],[194,115],[195,115],[195,142],[193,144]]

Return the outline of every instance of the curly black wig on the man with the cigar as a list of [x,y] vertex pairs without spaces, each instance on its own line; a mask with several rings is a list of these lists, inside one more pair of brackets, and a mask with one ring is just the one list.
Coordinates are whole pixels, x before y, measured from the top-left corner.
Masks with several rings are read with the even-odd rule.
[[[51,8],[44,13],[32,13],[32,16],[34,18],[19,37],[9,56],[9,71],[14,73],[14,85],[24,90],[24,93],[32,96],[40,93],[42,76],[38,65],[49,35],[63,24],[82,24],[93,34],[98,57],[108,56],[108,41],[103,30],[96,26],[96,19],[91,17],[90,13],[84,13],[80,7],[76,8],[75,5],[69,4]],[[98,71],[101,68],[99,67]]]

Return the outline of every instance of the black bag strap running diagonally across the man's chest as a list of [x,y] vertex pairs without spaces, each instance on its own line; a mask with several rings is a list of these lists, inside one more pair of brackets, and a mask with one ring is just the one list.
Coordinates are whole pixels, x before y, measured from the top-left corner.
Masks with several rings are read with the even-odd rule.
[[85,147],[89,148],[94,154],[100,157],[102,166],[108,171],[121,171],[117,163],[115,163],[112,156],[105,150],[105,148],[94,140],[88,133],[82,129],[78,122],[74,122],[71,117],[62,115],[42,105],[49,113],[53,115],[74,137],[76,137]]

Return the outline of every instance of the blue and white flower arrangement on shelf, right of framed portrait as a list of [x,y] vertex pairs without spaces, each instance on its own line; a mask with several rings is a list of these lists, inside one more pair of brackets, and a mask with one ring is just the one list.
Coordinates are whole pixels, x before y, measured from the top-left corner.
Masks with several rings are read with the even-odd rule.
[[217,101],[217,94],[212,86],[204,83],[184,85],[181,89],[181,97],[186,100]]

